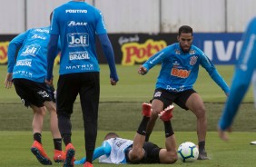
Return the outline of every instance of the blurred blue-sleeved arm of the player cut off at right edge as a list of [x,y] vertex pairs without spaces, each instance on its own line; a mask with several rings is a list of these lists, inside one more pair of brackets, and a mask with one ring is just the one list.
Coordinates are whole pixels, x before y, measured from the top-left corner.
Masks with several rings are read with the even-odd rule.
[[[243,44],[239,54],[239,60],[235,67],[231,83],[231,92],[223,108],[222,117],[219,121],[219,136],[222,140],[228,140],[226,131],[231,132],[231,124],[238,112],[241,101],[252,81],[254,87],[254,99],[256,100],[256,80],[252,79],[256,69],[256,17],[251,19],[243,34]],[[256,144],[251,142],[251,144]]]

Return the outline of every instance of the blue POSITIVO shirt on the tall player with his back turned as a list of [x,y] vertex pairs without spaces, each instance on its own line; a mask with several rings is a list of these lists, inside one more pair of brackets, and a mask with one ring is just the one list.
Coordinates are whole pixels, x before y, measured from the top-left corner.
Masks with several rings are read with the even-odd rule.
[[59,74],[99,72],[95,34],[106,33],[103,15],[92,5],[70,1],[54,9],[50,34],[60,35]]

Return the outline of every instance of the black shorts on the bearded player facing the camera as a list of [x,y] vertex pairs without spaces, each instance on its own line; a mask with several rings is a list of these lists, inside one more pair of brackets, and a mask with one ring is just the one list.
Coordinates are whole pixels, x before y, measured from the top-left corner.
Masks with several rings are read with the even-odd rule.
[[193,89],[188,89],[181,93],[171,93],[164,89],[158,88],[153,93],[153,99],[158,99],[162,101],[163,108],[166,108],[168,105],[171,105],[172,103],[176,103],[177,105],[182,107],[182,109],[189,110],[188,107],[186,106],[186,102],[192,93],[196,92]]

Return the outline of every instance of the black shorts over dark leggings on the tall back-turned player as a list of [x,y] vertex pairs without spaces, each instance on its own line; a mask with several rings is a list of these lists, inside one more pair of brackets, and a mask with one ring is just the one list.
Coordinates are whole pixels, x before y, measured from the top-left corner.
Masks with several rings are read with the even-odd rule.
[[60,75],[56,98],[58,115],[70,117],[79,93],[83,113],[96,118],[100,97],[99,76],[98,72]]

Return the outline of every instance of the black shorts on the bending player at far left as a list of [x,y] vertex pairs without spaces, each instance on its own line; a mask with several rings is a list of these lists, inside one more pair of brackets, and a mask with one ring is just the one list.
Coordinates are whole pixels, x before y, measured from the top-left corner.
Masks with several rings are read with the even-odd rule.
[[46,83],[37,83],[22,78],[15,78],[13,82],[16,93],[20,96],[22,103],[26,107],[30,105],[43,107],[45,101],[55,102],[54,87]]

